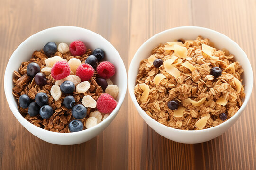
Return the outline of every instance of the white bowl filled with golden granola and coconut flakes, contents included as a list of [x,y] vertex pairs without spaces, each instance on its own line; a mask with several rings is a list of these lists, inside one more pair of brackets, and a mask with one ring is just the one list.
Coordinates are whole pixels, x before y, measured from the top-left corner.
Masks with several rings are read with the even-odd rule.
[[250,61],[238,44],[195,26],[148,39],[128,73],[141,117],[158,134],[181,143],[205,142],[227,131],[241,116],[252,87]]

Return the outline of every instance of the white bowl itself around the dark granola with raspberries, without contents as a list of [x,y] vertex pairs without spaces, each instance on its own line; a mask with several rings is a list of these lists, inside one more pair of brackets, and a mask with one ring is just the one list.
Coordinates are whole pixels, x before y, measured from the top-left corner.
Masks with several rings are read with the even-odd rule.
[[[119,87],[119,94],[117,97],[117,107],[110,116],[99,123],[95,127],[73,133],[57,133],[51,132],[29,123],[24,119],[18,111],[17,101],[12,95],[13,88],[13,71],[18,71],[18,68],[23,61],[28,61],[35,50],[40,50],[47,42],[53,41],[56,44],[65,42],[70,44],[72,41],[81,40],[85,43],[88,49],[101,48],[105,51],[106,61],[110,61],[116,68],[116,74],[113,77],[113,82]],[[74,27],[74,26],[59,26],[40,31],[22,42],[18,48],[13,52],[7,64],[4,75],[4,91],[7,102],[14,116],[18,119],[22,126],[38,138],[52,143],[61,145],[80,144],[91,138],[97,136],[103,131],[111,121],[116,117],[127,89],[127,75],[124,63],[118,51],[101,35],[96,34],[90,30]]]

